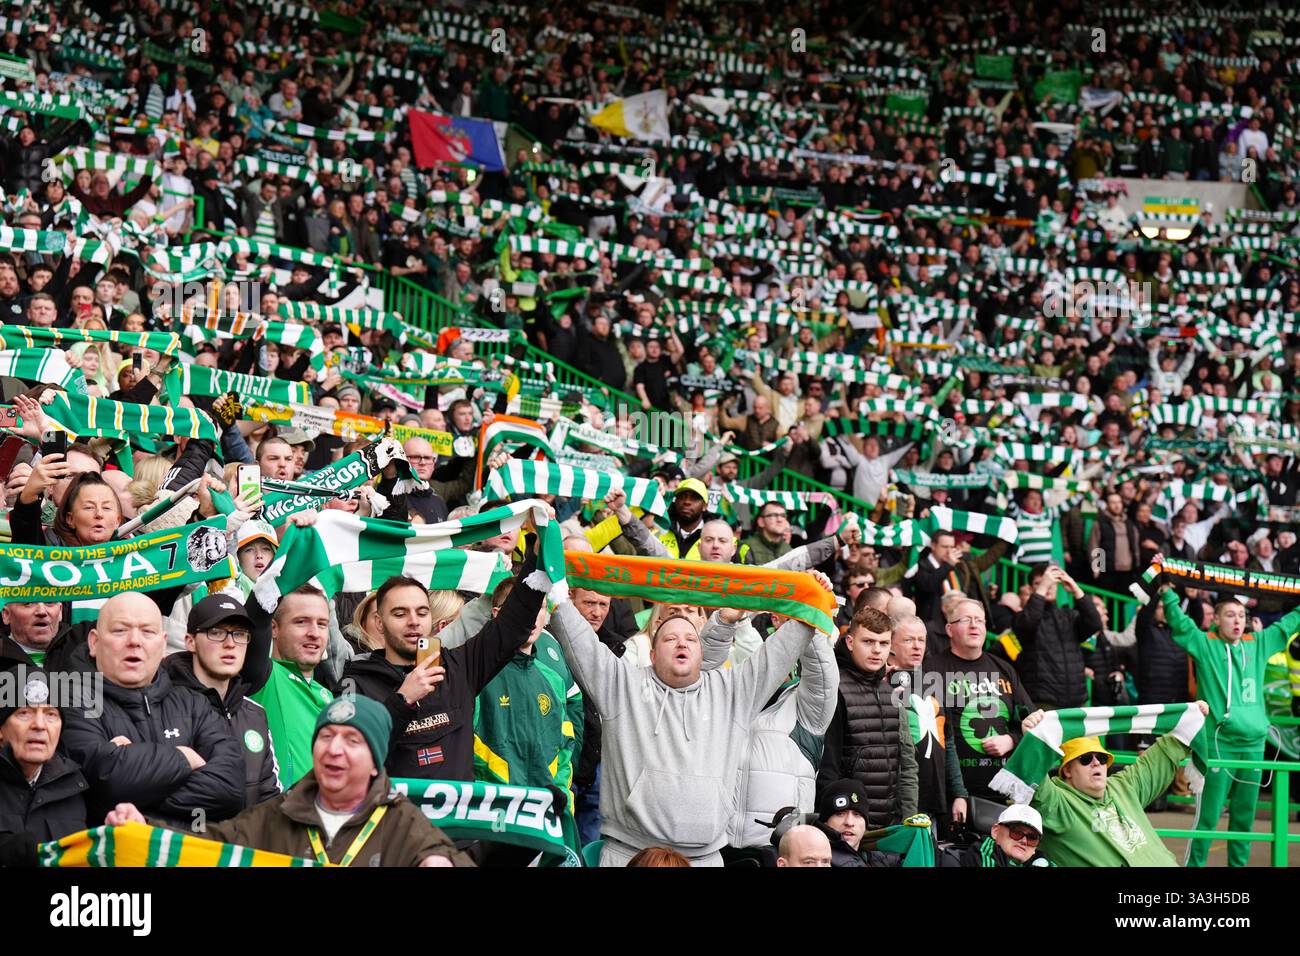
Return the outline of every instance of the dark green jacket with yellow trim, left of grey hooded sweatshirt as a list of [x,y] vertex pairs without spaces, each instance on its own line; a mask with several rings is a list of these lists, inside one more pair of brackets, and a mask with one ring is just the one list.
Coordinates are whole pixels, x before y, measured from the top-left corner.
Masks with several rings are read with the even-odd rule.
[[576,754],[567,691],[536,654],[515,654],[474,701],[474,779],[568,792]]

